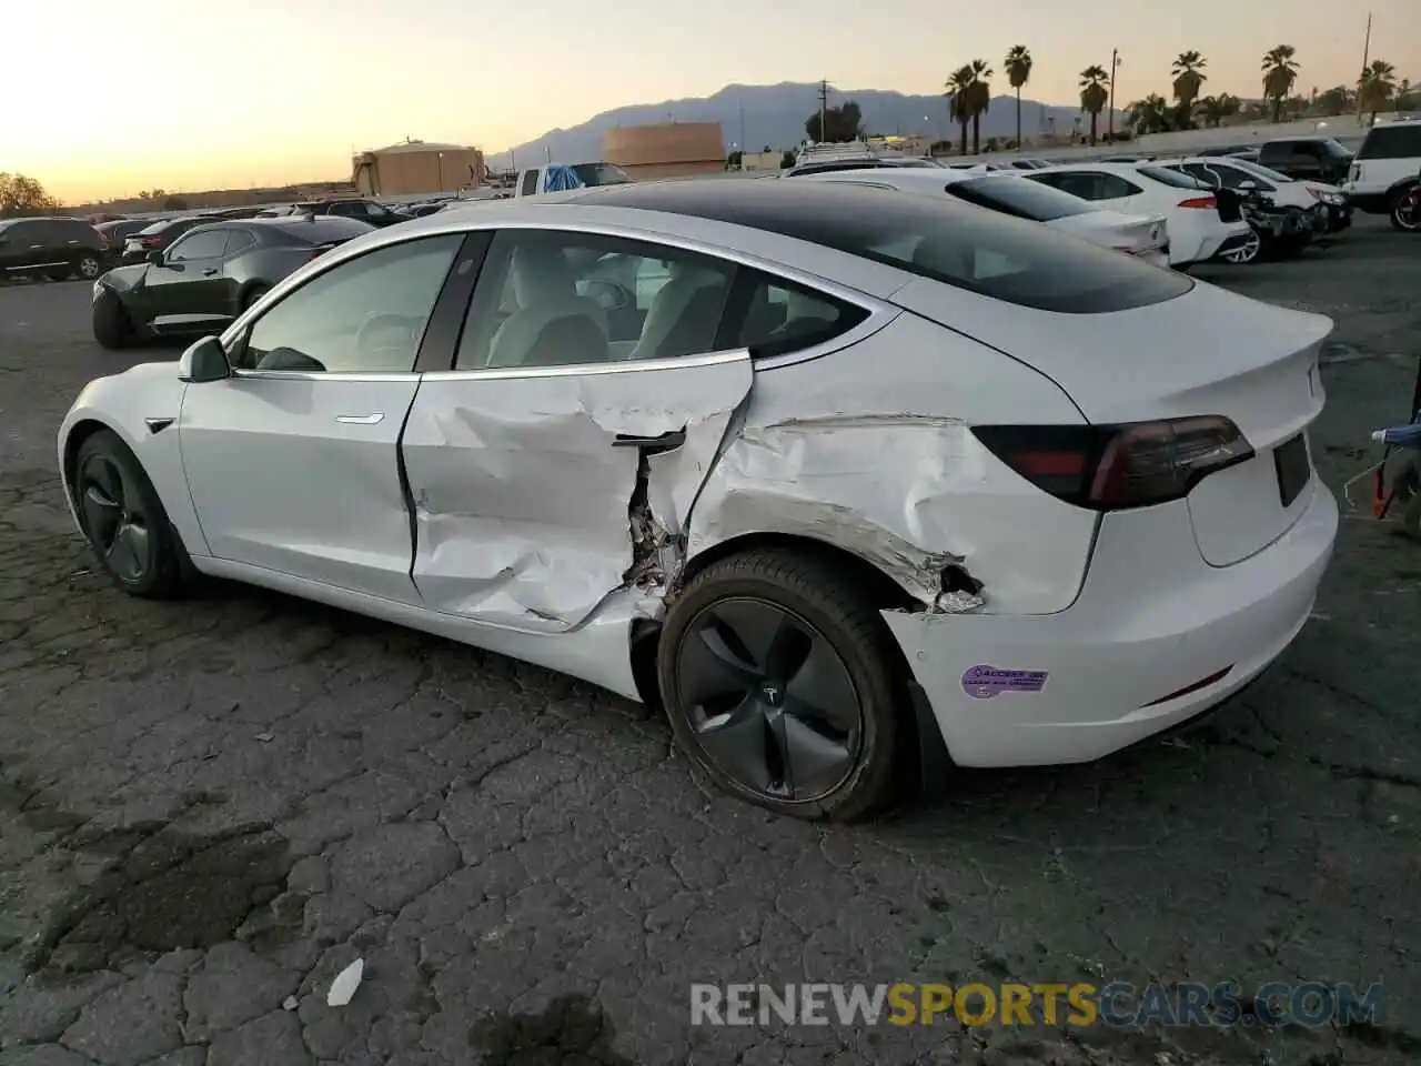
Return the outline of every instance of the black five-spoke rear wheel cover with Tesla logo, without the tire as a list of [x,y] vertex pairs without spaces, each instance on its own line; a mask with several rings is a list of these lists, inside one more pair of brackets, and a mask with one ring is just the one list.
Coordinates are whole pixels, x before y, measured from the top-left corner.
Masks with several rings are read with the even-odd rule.
[[863,711],[843,658],[766,600],[720,600],[678,650],[679,702],[706,755],[763,796],[813,802],[848,776]]

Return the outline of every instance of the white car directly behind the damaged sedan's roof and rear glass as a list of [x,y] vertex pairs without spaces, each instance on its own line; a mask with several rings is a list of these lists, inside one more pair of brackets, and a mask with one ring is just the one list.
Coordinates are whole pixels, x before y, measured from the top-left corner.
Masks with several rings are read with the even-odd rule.
[[814,181],[854,182],[919,196],[962,200],[1096,244],[1138,256],[1155,266],[1169,266],[1169,235],[1162,215],[1123,215],[1094,203],[1029,182],[1012,172],[976,175],[963,171],[841,171],[817,175]]

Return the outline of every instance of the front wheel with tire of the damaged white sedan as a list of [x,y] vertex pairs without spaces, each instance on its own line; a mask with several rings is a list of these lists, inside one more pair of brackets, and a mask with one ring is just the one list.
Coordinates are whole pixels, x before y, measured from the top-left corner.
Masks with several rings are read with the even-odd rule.
[[144,600],[183,591],[192,561],[142,463],[118,434],[101,429],[84,439],[71,490],[84,537],[115,586]]

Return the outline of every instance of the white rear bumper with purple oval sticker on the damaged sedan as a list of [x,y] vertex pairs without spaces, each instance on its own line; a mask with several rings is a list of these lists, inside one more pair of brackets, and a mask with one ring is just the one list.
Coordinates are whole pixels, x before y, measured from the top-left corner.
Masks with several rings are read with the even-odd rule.
[[[1337,503],[1316,476],[1309,492],[1297,522],[1235,566],[1205,563],[1184,505],[1164,505],[1101,522],[1059,614],[885,613],[953,762],[1090,762],[1249,684],[1307,621],[1331,559]],[[983,667],[1027,674],[1020,691],[972,695]]]

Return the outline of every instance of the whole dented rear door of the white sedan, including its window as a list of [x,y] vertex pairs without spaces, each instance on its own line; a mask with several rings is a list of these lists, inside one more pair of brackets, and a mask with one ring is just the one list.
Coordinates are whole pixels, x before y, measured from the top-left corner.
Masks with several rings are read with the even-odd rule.
[[659,244],[493,237],[455,367],[425,375],[402,443],[429,608],[563,632],[672,569],[753,381],[722,335],[733,274]]

